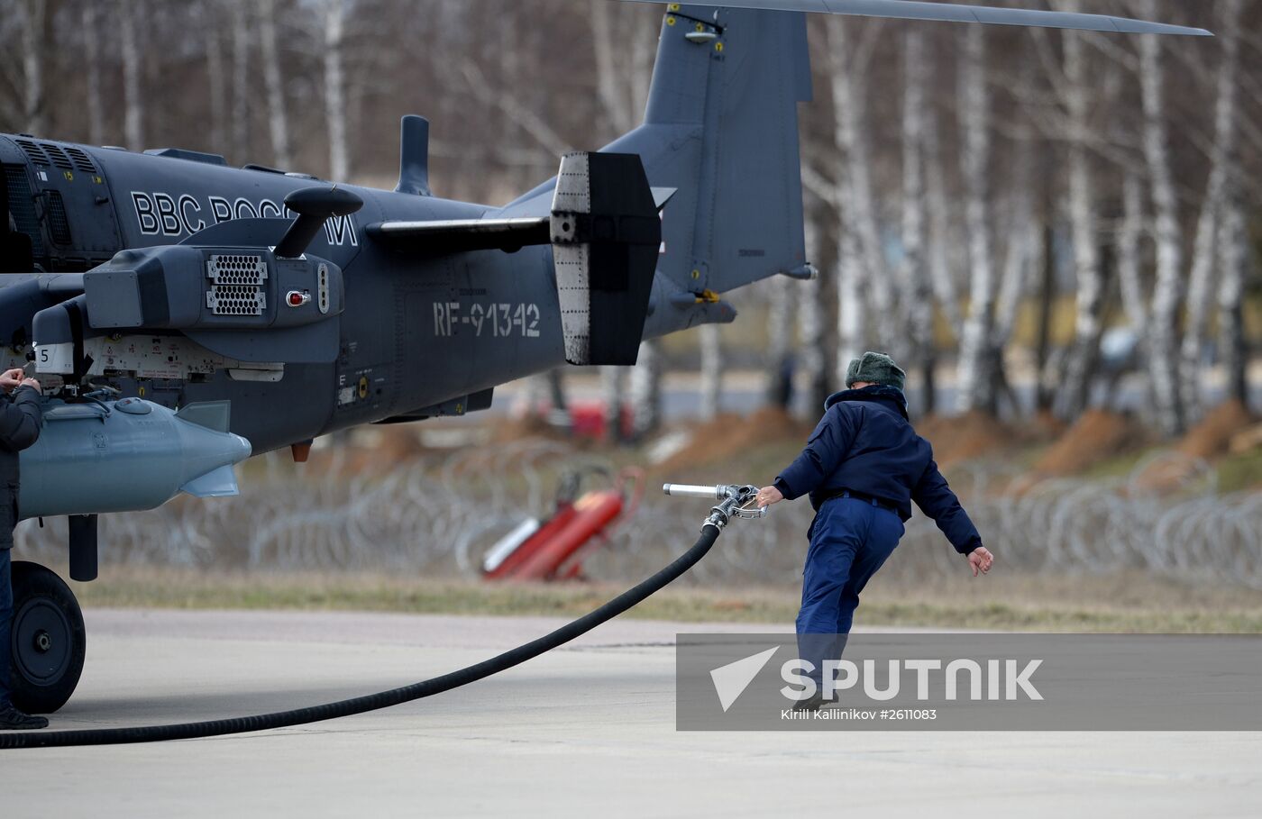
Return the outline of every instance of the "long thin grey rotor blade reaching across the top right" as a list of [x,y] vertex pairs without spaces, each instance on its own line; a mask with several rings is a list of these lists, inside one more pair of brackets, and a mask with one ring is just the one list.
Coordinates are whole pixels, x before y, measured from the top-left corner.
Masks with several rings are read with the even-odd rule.
[[[659,3],[660,0],[627,0],[630,3]],[[689,4],[669,4],[679,11]],[[1112,34],[1177,34],[1188,37],[1213,37],[1212,32],[1185,25],[1147,23],[1106,14],[1073,14],[1037,9],[994,9],[953,3],[924,3],[921,0],[718,0],[695,4],[693,8],[731,6],[733,9],[766,9],[780,11],[811,11],[818,14],[846,14],[900,20],[940,20],[944,23],[986,23],[989,25],[1026,25],[1050,29],[1079,29]],[[687,10],[684,10],[687,14]]]

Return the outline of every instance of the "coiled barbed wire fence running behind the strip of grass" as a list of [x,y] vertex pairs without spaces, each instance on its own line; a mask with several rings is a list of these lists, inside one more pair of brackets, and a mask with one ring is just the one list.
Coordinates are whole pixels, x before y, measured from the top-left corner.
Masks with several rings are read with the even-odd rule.
[[[241,495],[177,498],[151,512],[101,517],[102,565],[257,572],[381,572],[476,577],[482,557],[526,517],[551,514],[559,476],[612,466],[549,440],[433,454],[381,473],[355,471],[345,448],[321,469],[271,453],[241,469]],[[1161,491],[1145,476],[1169,467],[1180,486]],[[748,476],[714,476],[731,481]],[[950,472],[954,488],[1005,567],[1045,573],[1142,570],[1155,575],[1262,588],[1262,492],[1220,493],[1213,468],[1159,453],[1126,477],[1032,481],[1011,467],[970,463]],[[692,543],[704,501],[669,498],[650,486],[632,519],[584,562],[584,574],[626,580],[656,569]],[[777,505],[732,526],[689,582],[789,584],[800,578],[805,501]],[[907,522],[887,574],[916,579],[958,570],[958,555],[933,521]],[[18,555],[66,559],[64,520],[21,524]]]

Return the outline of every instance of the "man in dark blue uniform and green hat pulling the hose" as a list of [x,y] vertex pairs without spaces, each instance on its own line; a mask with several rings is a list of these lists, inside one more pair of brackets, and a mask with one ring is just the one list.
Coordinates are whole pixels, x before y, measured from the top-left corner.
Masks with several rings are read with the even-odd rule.
[[758,490],[758,506],[809,493],[815,509],[798,613],[799,652],[817,683],[805,708],[822,703],[823,661],[840,657],[859,592],[899,545],[912,501],[968,557],[973,577],[994,560],[938,471],[929,442],[911,428],[905,381],[883,353],[852,361],[849,389],[824,403],[806,448],[772,486]]

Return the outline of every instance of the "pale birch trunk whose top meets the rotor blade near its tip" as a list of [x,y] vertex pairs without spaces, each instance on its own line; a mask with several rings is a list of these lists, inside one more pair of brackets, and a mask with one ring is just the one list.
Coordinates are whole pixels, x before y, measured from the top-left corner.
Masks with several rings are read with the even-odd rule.
[[1161,38],[1141,35],[1140,56],[1143,153],[1152,184],[1153,237],[1157,245],[1157,280],[1148,324],[1148,368],[1161,429],[1166,435],[1176,435],[1185,425],[1177,360],[1184,249],[1179,231],[1179,202],[1170,170]]

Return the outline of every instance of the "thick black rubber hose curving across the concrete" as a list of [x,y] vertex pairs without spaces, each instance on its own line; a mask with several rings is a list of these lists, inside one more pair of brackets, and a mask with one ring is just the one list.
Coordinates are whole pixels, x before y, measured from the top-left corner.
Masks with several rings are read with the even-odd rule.
[[148,726],[140,728],[97,728],[90,731],[32,731],[23,733],[0,733],[0,748],[61,748],[83,745],[129,745],[134,742],[165,742],[169,739],[197,739],[201,737],[218,737],[230,733],[246,733],[251,731],[268,731],[270,728],[288,728],[290,726],[303,726],[312,722],[323,722],[338,717],[362,714],[370,710],[379,710],[401,703],[410,703],[423,697],[433,697],[449,692],[461,685],[476,683],[531,660],[545,651],[565,645],[574,637],[579,637],[601,623],[617,617],[632,606],[661,591],[688,569],[705,557],[714,541],[718,540],[719,530],[712,524],[702,529],[702,536],[693,544],[693,548],[679,555],[670,565],[665,567],[652,577],[640,584],[622,592],[596,611],[583,615],[578,620],[565,623],[557,631],[544,635],[538,640],[531,640],[525,645],[511,649],[483,660],[476,665],[469,665],[451,674],[434,676],[420,683],[413,683],[403,688],[395,688],[379,694],[343,699],[323,705],[298,708],[295,710],[281,710],[271,714],[257,714],[254,717],[235,717],[231,719],[212,719],[209,722],[188,722],[174,726]]

